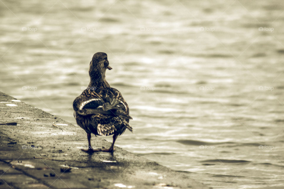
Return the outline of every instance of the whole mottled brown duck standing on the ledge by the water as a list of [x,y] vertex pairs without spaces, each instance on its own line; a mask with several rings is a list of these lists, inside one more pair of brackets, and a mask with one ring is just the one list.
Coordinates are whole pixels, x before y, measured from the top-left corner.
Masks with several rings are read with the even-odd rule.
[[[106,53],[95,53],[89,67],[91,81],[82,94],[73,101],[74,117],[78,126],[86,131],[88,139],[88,149],[81,150],[89,153],[113,152],[117,137],[126,129],[133,132],[133,128],[129,125],[132,117],[129,115],[128,105],[122,94],[110,87],[106,81],[106,69],[112,69]],[[93,149],[91,133],[95,136],[113,135],[110,148]]]

